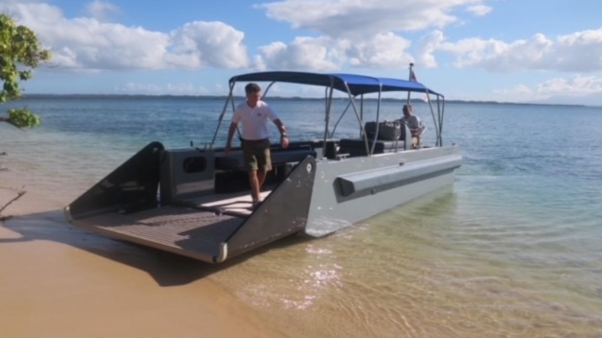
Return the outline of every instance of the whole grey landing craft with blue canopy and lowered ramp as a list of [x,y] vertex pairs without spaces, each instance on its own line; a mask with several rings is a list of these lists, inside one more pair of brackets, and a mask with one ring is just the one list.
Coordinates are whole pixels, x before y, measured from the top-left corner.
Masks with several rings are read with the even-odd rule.
[[[264,96],[275,83],[325,88],[324,137],[272,147],[270,190],[255,210],[249,208],[241,148],[225,156],[215,146],[226,111],[234,110],[235,85],[248,81],[268,82]],[[336,125],[329,128],[334,90],[349,99],[341,117],[352,108],[356,139],[336,139]],[[379,139],[381,94],[395,91],[426,93],[436,134],[432,146],[411,149],[405,125],[394,128],[394,139]],[[375,131],[364,124],[368,93],[378,94]],[[453,183],[462,157],[458,146],[443,145],[444,104],[444,96],[415,81],[306,72],[238,75],[229,80],[211,143],[183,149],[149,143],[69,204],[65,216],[78,227],[211,263],[295,233],[324,236]]]

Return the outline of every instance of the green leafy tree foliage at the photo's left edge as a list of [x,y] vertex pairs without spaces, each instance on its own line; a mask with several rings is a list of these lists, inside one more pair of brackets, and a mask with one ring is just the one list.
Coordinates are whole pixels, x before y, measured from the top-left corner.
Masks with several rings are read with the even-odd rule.
[[[19,81],[29,80],[32,69],[50,58],[50,51],[42,48],[34,31],[17,25],[10,16],[0,14],[0,81],[4,83],[0,92],[1,103],[19,98]],[[9,110],[8,117],[0,117],[0,121],[19,128],[36,127],[40,124],[40,117],[27,108],[21,108]]]

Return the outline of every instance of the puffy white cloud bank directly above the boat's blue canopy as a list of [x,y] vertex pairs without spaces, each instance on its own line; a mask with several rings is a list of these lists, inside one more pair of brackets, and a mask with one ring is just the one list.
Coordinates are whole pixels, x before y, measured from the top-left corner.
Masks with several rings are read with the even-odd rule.
[[414,61],[406,52],[410,42],[394,33],[376,34],[352,42],[326,36],[296,37],[291,43],[272,42],[260,46],[255,67],[265,69],[299,69],[328,71],[343,64],[365,68],[403,68]]

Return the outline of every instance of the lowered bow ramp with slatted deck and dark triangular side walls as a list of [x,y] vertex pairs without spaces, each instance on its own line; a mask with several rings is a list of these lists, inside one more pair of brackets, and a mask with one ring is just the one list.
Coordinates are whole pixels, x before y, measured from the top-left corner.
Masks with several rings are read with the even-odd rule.
[[[181,164],[166,165],[166,153],[159,142],[147,145],[68,205],[67,221],[116,239],[211,263],[305,228],[315,177],[313,157],[290,164],[284,180],[251,211],[248,191],[163,198],[166,189],[162,185],[172,183],[164,179],[169,177],[166,171]],[[213,154],[203,151],[196,156],[215,160]],[[211,176],[214,180],[213,173]],[[158,197],[160,188],[162,198]]]

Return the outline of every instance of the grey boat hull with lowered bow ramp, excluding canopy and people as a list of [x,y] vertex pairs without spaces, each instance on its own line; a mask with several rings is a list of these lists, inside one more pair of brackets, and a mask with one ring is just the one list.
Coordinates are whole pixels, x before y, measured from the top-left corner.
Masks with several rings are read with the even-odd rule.
[[320,150],[291,165],[259,208],[241,214],[199,199],[226,202],[206,190],[214,186],[207,172],[213,166],[190,171],[184,165],[222,154],[170,151],[153,142],[68,205],[66,219],[105,236],[220,263],[291,234],[325,236],[452,184],[462,161],[457,146],[337,160],[315,158]]

